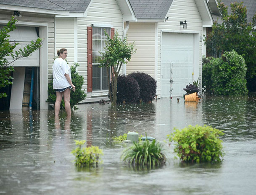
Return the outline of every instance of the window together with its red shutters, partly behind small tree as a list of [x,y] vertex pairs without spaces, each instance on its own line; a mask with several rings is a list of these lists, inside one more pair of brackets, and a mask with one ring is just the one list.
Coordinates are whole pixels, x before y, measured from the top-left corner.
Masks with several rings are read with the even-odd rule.
[[108,89],[106,68],[99,68],[100,52],[105,47],[104,29],[113,39],[113,28],[87,27],[87,92]]

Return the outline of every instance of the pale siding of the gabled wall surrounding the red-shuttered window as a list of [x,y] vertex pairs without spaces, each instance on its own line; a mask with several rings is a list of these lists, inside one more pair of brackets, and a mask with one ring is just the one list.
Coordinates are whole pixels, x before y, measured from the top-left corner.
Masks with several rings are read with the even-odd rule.
[[[83,89],[87,93],[87,27],[102,24],[115,28],[119,36],[123,36],[123,15],[116,0],[92,0],[87,17],[77,18],[77,60],[78,72],[84,77]],[[122,72],[122,70],[121,70]],[[91,93],[85,101],[90,101]]]

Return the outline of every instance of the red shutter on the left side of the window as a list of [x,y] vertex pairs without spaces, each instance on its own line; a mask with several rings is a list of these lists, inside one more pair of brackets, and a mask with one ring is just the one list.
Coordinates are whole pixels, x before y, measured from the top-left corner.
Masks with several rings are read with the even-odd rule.
[[87,27],[87,92],[92,92],[92,26]]

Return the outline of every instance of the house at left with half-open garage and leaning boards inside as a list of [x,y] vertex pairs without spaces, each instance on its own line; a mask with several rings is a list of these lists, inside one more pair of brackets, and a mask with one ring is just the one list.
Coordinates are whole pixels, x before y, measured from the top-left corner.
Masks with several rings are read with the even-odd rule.
[[[48,0],[0,0],[0,28],[11,16],[16,16],[17,29],[10,33],[9,41],[18,42],[19,49],[38,37],[43,39],[40,50],[32,56],[14,62],[13,85],[4,90],[8,98],[0,99],[1,109],[22,109],[28,106],[30,83],[34,71],[33,101],[37,109],[48,109],[48,65],[53,63],[55,49],[55,16],[69,11]],[[24,103],[24,104],[23,104]]]

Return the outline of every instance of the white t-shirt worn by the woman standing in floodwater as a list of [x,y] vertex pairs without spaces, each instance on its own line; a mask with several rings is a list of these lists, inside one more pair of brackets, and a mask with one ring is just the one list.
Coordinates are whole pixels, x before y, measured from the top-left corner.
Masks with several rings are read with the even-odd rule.
[[61,57],[56,58],[53,63],[53,89],[62,89],[71,86],[65,74],[69,74],[71,79],[70,67]]

